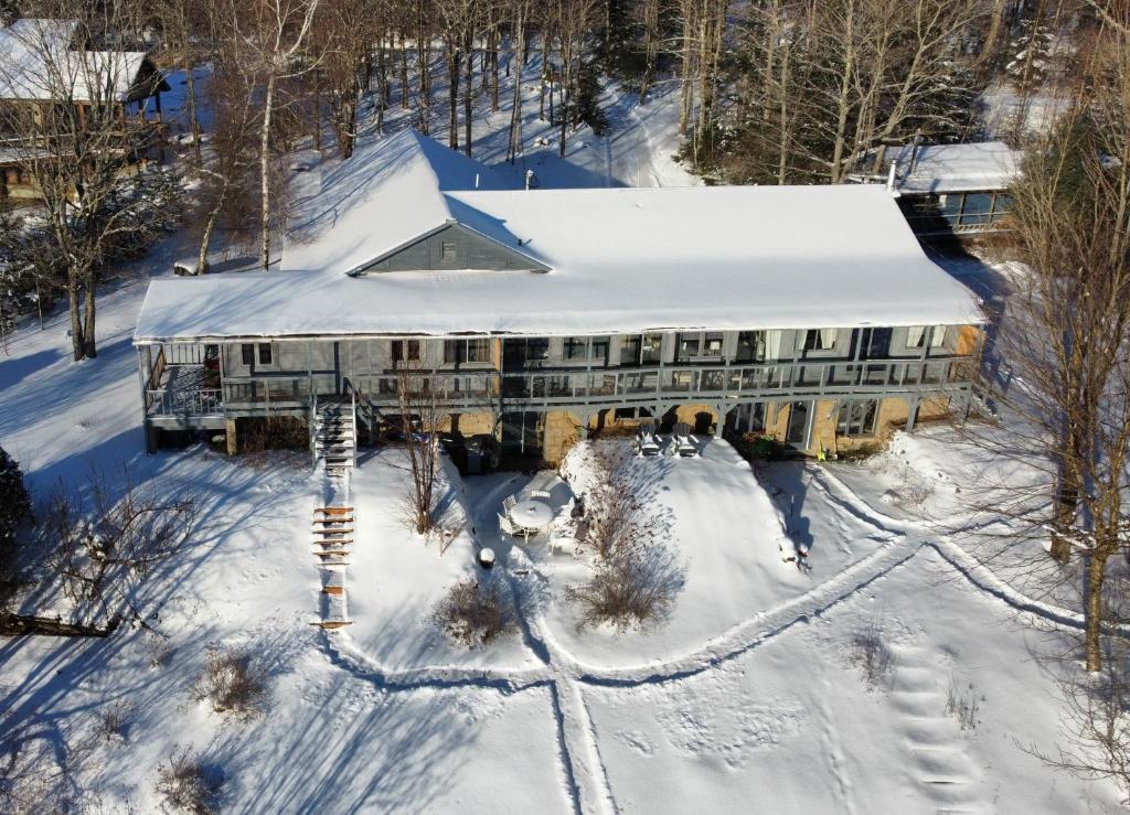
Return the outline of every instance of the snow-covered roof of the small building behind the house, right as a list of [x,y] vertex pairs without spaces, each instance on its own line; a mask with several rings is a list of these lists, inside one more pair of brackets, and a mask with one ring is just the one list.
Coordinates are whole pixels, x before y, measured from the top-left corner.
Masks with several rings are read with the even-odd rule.
[[972,144],[912,144],[898,149],[896,187],[902,193],[1003,190],[1020,170],[1020,150],[1002,141]]

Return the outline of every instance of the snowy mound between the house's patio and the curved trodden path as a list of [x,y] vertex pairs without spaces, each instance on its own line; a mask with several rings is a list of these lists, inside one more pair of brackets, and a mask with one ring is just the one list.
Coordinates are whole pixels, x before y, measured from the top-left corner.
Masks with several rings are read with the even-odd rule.
[[[544,633],[579,663],[623,668],[684,657],[724,639],[733,626],[792,601],[890,541],[889,534],[829,511],[827,497],[810,489],[805,467],[771,470],[763,487],[729,444],[702,442],[698,458],[628,459],[647,512],[660,522],[660,538],[685,566],[685,587],[666,624],[620,636],[602,630],[579,632],[576,610],[565,602],[563,591],[589,578],[588,559],[550,554],[545,543],[518,544],[529,560],[511,558],[510,568],[532,561],[547,584],[539,593]],[[579,475],[568,487],[583,494],[584,446],[573,456],[580,458],[571,458],[570,468]],[[479,534],[484,541],[490,536],[502,552],[512,545],[498,533],[502,498],[525,489],[525,482],[503,480],[499,484],[499,476],[489,476],[480,485],[479,479],[469,480]],[[542,488],[553,483],[544,475],[537,479]],[[567,490],[556,497],[558,507],[566,494]],[[811,547],[808,575],[781,560],[780,545],[792,546],[784,537],[782,519],[792,540]]]

